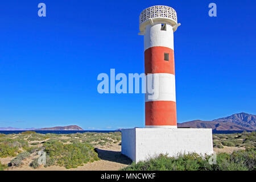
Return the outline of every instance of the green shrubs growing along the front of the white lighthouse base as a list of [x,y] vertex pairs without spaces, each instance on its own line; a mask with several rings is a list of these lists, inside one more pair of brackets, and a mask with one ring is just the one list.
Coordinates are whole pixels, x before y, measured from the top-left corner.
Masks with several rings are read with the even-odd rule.
[[197,154],[178,155],[176,158],[159,155],[144,162],[132,163],[123,170],[130,171],[246,171],[256,170],[255,148],[250,150],[235,151],[232,154],[221,153],[217,155],[216,164],[209,164],[211,156]]

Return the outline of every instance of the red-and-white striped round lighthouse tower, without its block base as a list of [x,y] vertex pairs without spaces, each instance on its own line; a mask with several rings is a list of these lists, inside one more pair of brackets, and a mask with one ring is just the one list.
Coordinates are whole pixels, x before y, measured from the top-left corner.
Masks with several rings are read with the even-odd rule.
[[148,7],[139,16],[139,35],[144,35],[147,81],[146,127],[177,128],[174,32],[178,26],[176,11],[168,6]]

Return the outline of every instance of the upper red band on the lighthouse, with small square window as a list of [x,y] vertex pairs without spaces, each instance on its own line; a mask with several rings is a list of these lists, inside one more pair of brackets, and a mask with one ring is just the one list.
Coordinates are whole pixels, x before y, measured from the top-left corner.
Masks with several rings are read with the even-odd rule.
[[[169,53],[169,61],[164,60],[164,53]],[[145,74],[171,73],[174,71],[174,50],[168,47],[150,47],[144,51]]]

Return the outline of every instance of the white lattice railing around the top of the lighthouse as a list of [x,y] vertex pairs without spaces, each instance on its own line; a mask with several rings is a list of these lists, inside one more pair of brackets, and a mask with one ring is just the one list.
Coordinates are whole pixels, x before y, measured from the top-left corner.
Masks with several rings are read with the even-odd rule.
[[177,23],[177,13],[169,6],[151,6],[144,9],[139,16],[139,24],[146,22],[148,19],[154,18],[167,18],[174,20]]

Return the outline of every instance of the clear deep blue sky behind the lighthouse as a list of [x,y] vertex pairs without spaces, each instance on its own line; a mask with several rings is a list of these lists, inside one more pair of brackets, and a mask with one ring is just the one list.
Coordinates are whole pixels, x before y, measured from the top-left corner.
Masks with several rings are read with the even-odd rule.
[[173,7],[181,23],[177,121],[255,114],[256,2],[9,0],[0,2],[0,127],[143,127],[144,95],[99,94],[97,76],[144,72],[139,14],[154,5]]

